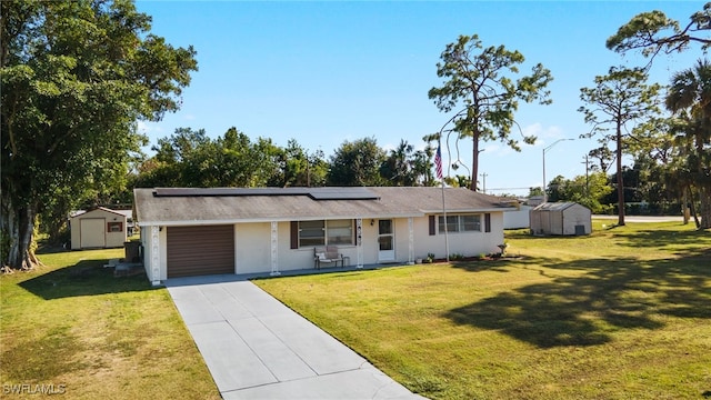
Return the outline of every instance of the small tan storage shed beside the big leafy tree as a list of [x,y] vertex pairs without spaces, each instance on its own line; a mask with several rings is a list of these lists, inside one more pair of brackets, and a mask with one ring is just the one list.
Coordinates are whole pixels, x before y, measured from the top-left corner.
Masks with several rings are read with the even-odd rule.
[[69,227],[72,250],[119,248],[127,240],[127,217],[103,207],[73,213]]

